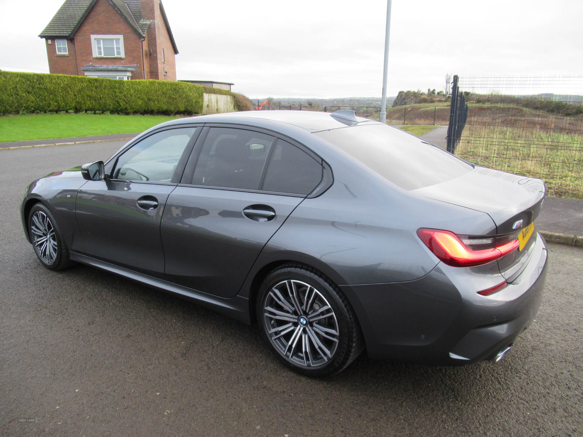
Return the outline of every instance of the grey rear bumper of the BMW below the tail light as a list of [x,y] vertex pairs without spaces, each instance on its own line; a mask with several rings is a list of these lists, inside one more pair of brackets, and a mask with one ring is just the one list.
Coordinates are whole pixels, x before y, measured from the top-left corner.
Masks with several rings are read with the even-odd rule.
[[493,358],[538,312],[547,251],[543,238],[536,237],[523,272],[487,297],[466,287],[475,287],[475,278],[464,281],[464,269],[441,263],[415,281],[340,287],[357,313],[368,355],[436,365]]

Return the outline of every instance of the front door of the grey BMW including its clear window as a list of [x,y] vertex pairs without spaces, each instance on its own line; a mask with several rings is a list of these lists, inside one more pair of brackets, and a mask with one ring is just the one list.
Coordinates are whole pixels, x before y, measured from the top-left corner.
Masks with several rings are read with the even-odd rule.
[[195,127],[155,132],[115,159],[111,177],[78,192],[83,252],[163,276],[160,221],[195,141]]

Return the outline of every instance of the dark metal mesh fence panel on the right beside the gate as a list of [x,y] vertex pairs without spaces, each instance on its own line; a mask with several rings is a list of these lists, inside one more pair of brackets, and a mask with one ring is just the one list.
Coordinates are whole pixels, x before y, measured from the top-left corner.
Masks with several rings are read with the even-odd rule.
[[583,198],[583,76],[455,79],[456,155],[543,179],[549,195]]

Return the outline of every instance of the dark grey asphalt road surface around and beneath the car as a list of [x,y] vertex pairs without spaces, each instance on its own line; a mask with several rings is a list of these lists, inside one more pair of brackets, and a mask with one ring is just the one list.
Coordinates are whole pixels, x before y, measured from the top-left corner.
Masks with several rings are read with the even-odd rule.
[[312,380],[252,327],[90,267],[40,265],[20,226],[26,185],[121,145],[0,151],[1,436],[583,434],[583,249],[549,246],[536,322],[500,364],[363,355]]

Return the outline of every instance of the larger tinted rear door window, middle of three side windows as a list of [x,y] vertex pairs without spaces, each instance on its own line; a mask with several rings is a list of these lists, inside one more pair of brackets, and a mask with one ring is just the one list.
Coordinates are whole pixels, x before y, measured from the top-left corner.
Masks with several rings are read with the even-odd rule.
[[273,137],[245,129],[211,128],[196,163],[193,185],[259,189]]

